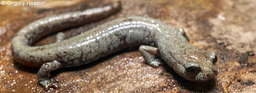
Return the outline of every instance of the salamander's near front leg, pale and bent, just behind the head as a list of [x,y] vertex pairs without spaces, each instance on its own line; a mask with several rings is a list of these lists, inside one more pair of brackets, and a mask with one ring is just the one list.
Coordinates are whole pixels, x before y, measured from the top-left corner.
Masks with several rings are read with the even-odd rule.
[[[159,59],[154,58],[158,55],[158,50],[155,47],[150,47],[146,45],[142,45],[139,47],[140,53],[142,53],[142,56],[145,59],[145,62],[149,64],[150,66],[159,66],[161,61]],[[154,57],[152,56],[154,55]]]

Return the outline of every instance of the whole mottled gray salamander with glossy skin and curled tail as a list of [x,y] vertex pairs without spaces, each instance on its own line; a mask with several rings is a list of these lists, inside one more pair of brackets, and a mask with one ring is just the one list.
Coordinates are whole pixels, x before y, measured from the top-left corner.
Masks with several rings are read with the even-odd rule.
[[54,69],[87,64],[115,51],[137,45],[142,45],[139,51],[146,63],[158,66],[161,64],[160,60],[151,55],[160,56],[176,73],[190,81],[207,81],[217,74],[217,57],[214,52],[190,45],[183,30],[174,30],[152,18],[123,17],[76,37],[62,40],[59,35],[59,42],[31,46],[53,32],[102,19],[119,9],[120,2],[88,10],[87,13],[69,12],[36,20],[21,29],[12,39],[14,58],[25,66],[41,66],[37,77],[46,89],[56,87],[49,79],[49,72]]

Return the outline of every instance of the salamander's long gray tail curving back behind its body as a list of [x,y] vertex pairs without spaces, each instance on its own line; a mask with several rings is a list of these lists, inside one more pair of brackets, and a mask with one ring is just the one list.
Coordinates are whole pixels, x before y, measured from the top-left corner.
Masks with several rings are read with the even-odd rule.
[[49,15],[35,20],[19,30],[14,38],[12,38],[11,50],[14,59],[25,66],[39,67],[44,63],[42,59],[36,58],[40,54],[30,53],[31,45],[35,42],[51,33],[104,19],[115,14],[120,9],[121,2],[114,2],[104,7]]

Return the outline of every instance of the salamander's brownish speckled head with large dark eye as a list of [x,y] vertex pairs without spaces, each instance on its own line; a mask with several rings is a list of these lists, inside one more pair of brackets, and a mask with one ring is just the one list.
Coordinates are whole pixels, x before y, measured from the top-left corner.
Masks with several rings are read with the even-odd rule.
[[184,55],[179,56],[182,59],[179,62],[180,67],[174,68],[174,70],[190,81],[208,81],[214,78],[218,73],[215,65],[217,62],[215,53],[195,50],[187,50]]

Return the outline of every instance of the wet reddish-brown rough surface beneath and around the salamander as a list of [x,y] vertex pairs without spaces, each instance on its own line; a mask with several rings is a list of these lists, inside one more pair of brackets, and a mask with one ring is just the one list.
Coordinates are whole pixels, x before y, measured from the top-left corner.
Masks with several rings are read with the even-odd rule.
[[[112,0],[117,1],[117,0]],[[11,39],[33,20],[46,15],[104,6],[110,1],[87,0],[63,7],[0,6],[0,91],[46,92],[39,86],[38,68],[14,61]],[[219,74],[207,82],[190,82],[169,66],[145,64],[137,48],[129,48],[94,63],[52,72],[58,89],[48,92],[255,92],[256,91],[256,1],[254,0],[126,0],[111,17],[66,30],[67,37],[112,19],[141,15],[162,20],[170,27],[183,27],[190,44],[215,51]],[[54,4],[48,4],[54,6]],[[54,43],[55,35],[36,45]]]

